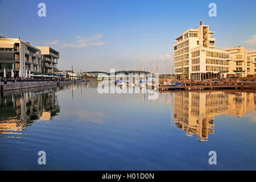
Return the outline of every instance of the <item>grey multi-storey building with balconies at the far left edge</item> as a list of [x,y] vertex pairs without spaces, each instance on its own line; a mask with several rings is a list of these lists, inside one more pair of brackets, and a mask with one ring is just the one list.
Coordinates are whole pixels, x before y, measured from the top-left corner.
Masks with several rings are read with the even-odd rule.
[[41,51],[20,38],[0,38],[0,76],[6,70],[6,77],[25,77],[26,72],[41,72]]

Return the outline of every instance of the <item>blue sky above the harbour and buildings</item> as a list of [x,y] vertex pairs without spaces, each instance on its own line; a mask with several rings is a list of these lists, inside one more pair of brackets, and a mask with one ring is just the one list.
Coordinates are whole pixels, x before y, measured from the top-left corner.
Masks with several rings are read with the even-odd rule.
[[[46,4],[46,17],[38,4]],[[209,3],[217,16],[208,15]],[[59,68],[75,71],[142,69],[170,73],[174,38],[200,20],[216,46],[256,49],[256,1],[0,0],[0,34],[60,52]]]

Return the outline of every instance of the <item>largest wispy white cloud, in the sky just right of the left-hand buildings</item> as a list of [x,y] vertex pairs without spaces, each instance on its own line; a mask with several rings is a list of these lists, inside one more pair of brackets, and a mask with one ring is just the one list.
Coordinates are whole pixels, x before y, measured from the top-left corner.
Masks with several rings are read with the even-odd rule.
[[100,41],[100,42],[95,42],[95,41],[92,41],[92,40],[98,40],[98,39],[101,39],[103,37],[103,34],[96,34],[90,38],[82,38],[81,36],[76,36],[75,39],[78,39],[76,40],[76,43],[73,43],[73,44],[63,44],[61,45],[60,47],[72,47],[72,48],[82,48],[82,47],[90,47],[90,46],[103,46],[105,44],[105,42],[103,41]]

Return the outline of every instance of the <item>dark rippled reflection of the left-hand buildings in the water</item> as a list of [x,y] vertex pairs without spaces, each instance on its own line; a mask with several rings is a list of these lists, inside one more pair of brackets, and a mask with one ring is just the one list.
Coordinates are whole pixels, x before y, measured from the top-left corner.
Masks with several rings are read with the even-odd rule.
[[0,134],[19,134],[35,120],[49,121],[60,112],[55,91],[26,92],[0,100]]

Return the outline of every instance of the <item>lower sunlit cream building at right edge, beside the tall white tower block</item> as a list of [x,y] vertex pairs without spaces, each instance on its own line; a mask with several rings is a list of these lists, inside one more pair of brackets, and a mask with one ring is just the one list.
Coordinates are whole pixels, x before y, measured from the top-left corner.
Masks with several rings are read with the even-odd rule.
[[229,52],[229,74],[240,77],[255,75],[256,51],[247,51],[241,46],[225,51]]

